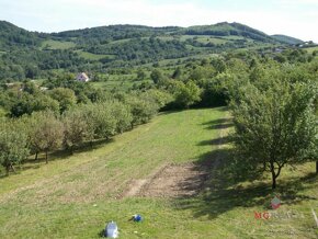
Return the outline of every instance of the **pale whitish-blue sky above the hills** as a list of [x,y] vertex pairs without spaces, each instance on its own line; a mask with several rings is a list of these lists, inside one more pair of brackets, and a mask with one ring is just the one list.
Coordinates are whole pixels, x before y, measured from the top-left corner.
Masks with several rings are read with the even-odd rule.
[[318,0],[0,0],[0,20],[46,33],[112,24],[239,22],[318,43]]

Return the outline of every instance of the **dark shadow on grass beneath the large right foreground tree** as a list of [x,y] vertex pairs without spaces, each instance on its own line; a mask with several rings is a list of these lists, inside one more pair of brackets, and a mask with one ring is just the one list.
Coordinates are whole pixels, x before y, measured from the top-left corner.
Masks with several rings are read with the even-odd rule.
[[[271,200],[275,195],[279,195],[285,205],[318,200],[302,194],[303,191],[315,187],[315,184],[310,184],[317,180],[315,174],[288,180],[279,179],[277,189],[273,191],[269,179],[261,181],[262,174],[251,174],[237,167],[232,153],[231,149],[216,149],[203,155],[196,163],[197,170],[208,172],[206,183],[196,196],[177,198],[175,208],[190,209],[194,217],[207,216],[213,219],[238,207],[257,206],[263,210],[271,209]],[[251,215],[253,213],[251,209]]]

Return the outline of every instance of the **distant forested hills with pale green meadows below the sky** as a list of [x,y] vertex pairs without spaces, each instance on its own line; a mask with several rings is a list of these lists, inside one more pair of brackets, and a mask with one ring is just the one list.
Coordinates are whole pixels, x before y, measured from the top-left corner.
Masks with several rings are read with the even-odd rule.
[[1,21],[0,80],[44,78],[57,70],[105,71],[105,68],[282,45],[288,43],[247,25],[227,22],[190,27],[111,25],[46,34]]

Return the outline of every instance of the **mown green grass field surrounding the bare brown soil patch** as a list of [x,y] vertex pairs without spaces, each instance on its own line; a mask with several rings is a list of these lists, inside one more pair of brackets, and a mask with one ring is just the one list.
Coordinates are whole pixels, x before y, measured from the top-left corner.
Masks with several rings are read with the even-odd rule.
[[[0,179],[0,238],[100,238],[115,220],[120,238],[317,238],[314,163],[284,169],[272,212],[270,180],[235,177],[224,107],[162,113],[112,141],[52,161],[27,162]],[[132,180],[147,179],[167,163],[213,164],[205,190],[193,197],[122,197]],[[139,213],[143,223],[128,219]]]

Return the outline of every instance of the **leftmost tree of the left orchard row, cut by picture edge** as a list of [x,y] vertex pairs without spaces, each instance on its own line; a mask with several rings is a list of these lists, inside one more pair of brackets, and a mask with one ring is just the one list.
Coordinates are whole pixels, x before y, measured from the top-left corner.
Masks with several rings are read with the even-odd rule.
[[0,164],[9,175],[15,164],[20,164],[29,156],[27,135],[16,121],[0,118]]

